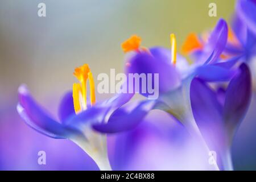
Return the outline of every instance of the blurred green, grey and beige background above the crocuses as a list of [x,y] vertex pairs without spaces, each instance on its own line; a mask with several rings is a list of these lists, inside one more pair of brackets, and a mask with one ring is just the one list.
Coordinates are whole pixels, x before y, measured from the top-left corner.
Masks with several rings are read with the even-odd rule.
[[[45,18],[38,4],[46,3]],[[209,17],[209,3],[217,17]],[[0,110],[15,108],[17,89],[26,83],[32,94],[56,113],[62,94],[72,88],[73,69],[88,63],[98,73],[123,70],[120,47],[130,35],[146,47],[169,45],[175,33],[180,48],[189,32],[229,20],[234,0],[138,1],[0,1]],[[96,81],[97,83],[97,81]],[[97,96],[98,100],[107,96]]]

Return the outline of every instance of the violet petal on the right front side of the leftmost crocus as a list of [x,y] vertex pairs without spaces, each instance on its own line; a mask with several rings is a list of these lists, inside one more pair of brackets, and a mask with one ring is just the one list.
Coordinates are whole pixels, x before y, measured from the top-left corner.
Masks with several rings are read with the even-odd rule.
[[127,112],[126,110],[118,109],[109,118],[108,123],[101,123],[93,125],[96,131],[101,133],[118,133],[133,129],[139,122],[147,115],[148,111],[153,109],[155,101],[142,101],[133,110]]

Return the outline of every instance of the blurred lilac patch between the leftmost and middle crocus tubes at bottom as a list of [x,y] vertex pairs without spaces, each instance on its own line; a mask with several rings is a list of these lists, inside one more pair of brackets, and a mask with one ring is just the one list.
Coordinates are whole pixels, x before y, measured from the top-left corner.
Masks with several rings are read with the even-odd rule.
[[152,110],[138,127],[109,135],[114,170],[205,170],[208,154],[170,114]]

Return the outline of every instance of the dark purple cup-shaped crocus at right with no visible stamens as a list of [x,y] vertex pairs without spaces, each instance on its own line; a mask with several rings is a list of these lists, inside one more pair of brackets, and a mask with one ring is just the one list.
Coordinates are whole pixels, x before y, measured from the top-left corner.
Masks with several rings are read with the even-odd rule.
[[251,98],[251,75],[246,64],[226,89],[214,91],[195,78],[191,84],[193,116],[211,151],[217,154],[218,167],[232,170],[230,147],[238,126],[245,117]]

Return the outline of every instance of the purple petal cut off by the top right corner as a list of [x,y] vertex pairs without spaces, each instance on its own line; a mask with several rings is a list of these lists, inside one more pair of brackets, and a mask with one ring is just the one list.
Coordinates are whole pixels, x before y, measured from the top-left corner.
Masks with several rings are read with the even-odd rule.
[[255,0],[240,0],[237,2],[237,14],[251,32],[256,35],[256,2]]

